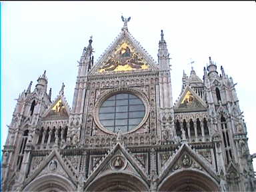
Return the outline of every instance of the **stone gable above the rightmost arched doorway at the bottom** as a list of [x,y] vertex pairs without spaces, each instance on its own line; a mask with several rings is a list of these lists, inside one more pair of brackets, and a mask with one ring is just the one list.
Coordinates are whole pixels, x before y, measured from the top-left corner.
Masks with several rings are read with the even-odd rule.
[[211,168],[211,165],[199,157],[187,143],[183,143],[179,150],[166,161],[162,169],[159,171],[159,183],[165,179],[170,173],[179,169],[198,169],[213,177],[219,182],[219,177],[215,174],[215,171]]

